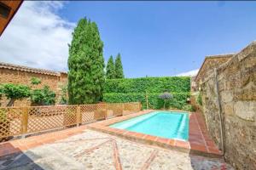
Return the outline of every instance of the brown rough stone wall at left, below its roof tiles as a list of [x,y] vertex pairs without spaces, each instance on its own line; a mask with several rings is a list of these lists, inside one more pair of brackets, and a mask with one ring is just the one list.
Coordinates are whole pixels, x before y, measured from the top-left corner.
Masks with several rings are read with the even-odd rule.
[[[32,85],[32,77],[38,77],[41,83],[38,85]],[[43,88],[44,85],[49,86],[56,94],[56,104],[58,103],[61,95],[61,86],[67,83],[67,74],[61,73],[60,76],[46,75],[40,73],[33,73],[28,71],[16,71],[11,69],[0,68],[0,83],[19,83],[25,84],[32,89]],[[9,99],[2,97],[0,100],[1,106],[7,105]],[[15,106],[31,105],[29,99],[16,100]]]

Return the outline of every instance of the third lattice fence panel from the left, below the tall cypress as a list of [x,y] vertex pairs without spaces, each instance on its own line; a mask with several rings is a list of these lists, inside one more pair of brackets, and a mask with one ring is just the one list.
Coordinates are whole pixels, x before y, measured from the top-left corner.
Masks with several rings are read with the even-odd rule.
[[80,105],[82,122],[92,122],[94,120],[95,111],[96,105]]

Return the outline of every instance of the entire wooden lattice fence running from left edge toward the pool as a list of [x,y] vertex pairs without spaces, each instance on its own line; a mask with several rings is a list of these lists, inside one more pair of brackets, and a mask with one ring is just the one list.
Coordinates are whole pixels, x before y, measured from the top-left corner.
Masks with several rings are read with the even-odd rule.
[[141,103],[0,107],[0,139],[122,116],[141,110]]

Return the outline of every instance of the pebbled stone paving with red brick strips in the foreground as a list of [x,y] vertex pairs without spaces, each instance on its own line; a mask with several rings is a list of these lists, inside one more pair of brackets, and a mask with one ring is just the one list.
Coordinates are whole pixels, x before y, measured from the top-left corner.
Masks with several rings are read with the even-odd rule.
[[84,129],[66,139],[0,157],[0,169],[233,169],[222,159],[138,144]]

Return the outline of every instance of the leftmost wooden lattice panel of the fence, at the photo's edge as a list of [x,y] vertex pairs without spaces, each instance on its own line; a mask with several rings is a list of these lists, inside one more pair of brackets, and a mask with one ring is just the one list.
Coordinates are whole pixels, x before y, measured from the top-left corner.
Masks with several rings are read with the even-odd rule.
[[0,108],[0,138],[21,134],[22,109]]

